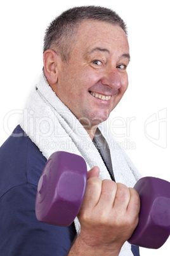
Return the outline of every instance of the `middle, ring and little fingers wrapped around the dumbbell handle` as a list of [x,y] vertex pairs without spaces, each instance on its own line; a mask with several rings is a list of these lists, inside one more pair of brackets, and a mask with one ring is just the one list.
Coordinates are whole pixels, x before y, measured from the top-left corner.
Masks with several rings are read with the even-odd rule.
[[131,225],[132,230],[138,224],[140,197],[134,188],[128,188],[122,183],[103,180],[97,206],[98,213],[105,216],[103,218],[105,222],[110,221],[112,217],[116,224]]

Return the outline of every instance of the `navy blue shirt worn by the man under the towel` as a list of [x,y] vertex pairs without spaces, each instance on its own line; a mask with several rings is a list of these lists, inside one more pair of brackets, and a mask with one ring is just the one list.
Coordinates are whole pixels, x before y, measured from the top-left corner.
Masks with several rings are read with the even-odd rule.
[[[0,148],[1,256],[65,256],[76,236],[74,224],[39,222],[37,184],[46,158],[18,125]],[[135,256],[138,247],[132,246]]]

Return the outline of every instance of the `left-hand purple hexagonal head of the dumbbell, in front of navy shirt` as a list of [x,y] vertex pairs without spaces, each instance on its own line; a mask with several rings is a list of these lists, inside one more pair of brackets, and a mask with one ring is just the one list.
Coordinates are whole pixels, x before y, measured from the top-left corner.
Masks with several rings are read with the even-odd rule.
[[37,187],[36,217],[41,222],[68,226],[74,222],[84,198],[87,167],[84,159],[68,152],[53,153]]

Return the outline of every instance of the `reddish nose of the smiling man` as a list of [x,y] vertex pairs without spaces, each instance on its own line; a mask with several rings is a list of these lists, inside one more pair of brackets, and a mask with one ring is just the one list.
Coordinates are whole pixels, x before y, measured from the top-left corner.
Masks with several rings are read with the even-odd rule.
[[108,85],[112,89],[118,90],[121,88],[121,76],[116,68],[114,69],[108,69],[105,71],[105,74],[103,74],[103,78],[101,78],[101,83],[103,85]]

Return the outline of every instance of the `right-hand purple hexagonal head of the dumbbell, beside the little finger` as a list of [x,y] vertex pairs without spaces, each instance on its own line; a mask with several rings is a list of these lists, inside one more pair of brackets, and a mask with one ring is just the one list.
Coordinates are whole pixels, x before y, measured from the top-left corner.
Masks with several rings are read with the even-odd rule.
[[170,234],[170,183],[154,177],[138,180],[139,223],[128,240],[133,245],[160,248]]

